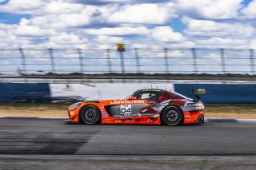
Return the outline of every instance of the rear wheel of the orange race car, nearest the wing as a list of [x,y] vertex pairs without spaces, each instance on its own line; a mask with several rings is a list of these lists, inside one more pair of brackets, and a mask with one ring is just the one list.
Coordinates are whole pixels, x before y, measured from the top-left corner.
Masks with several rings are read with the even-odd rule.
[[164,125],[174,126],[180,125],[183,122],[183,113],[181,109],[170,105],[167,106],[161,113],[161,121]]

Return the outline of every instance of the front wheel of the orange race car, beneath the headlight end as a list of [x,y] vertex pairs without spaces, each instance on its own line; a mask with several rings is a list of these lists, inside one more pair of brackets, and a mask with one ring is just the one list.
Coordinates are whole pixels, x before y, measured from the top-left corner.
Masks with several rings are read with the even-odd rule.
[[95,125],[101,121],[101,112],[94,105],[86,105],[79,113],[80,122],[87,125]]

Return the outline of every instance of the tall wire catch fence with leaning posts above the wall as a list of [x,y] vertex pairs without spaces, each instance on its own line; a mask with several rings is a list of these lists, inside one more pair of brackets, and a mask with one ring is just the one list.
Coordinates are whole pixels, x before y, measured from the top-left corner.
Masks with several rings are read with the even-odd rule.
[[254,49],[0,49],[0,76],[82,73],[255,75]]

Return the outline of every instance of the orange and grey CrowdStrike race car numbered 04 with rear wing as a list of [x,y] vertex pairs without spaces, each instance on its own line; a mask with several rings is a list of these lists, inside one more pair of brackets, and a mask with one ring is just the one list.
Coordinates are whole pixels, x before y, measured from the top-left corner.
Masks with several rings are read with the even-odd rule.
[[126,125],[203,124],[204,105],[200,95],[207,89],[193,89],[194,99],[166,89],[139,89],[123,99],[82,101],[70,105],[65,122]]

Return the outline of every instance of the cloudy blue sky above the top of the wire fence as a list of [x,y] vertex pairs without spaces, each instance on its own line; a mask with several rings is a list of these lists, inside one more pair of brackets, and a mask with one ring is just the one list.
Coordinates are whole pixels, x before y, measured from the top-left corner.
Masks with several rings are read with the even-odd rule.
[[256,0],[0,0],[0,49],[256,48]]

